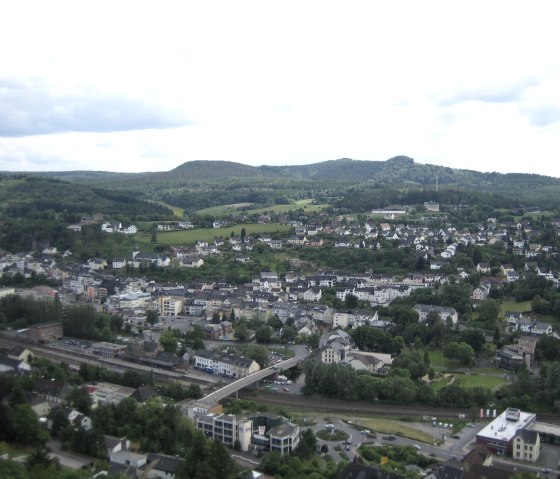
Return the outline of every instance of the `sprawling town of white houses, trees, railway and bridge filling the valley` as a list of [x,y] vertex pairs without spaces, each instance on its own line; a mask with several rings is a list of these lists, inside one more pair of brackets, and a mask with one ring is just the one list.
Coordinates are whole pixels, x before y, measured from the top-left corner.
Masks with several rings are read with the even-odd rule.
[[[388,447],[410,449],[417,473],[434,479],[501,468],[551,474],[560,459],[560,219],[525,211],[460,226],[437,202],[422,210],[410,217],[389,206],[362,221],[260,214],[257,225],[283,229],[250,234],[239,218],[234,233],[225,216],[213,222],[221,233],[213,241],[191,245],[162,243],[196,232],[191,221],[143,232],[95,215],[68,231],[130,238],[128,256],[79,263],[50,245],[3,252],[3,401],[14,412],[28,406],[37,422],[25,433],[14,422],[3,440],[30,444],[21,434],[31,434],[39,446],[50,435],[64,450],[105,460],[83,462],[85,477],[200,477],[215,443],[231,451],[216,467],[252,477],[291,477],[275,463],[291,455],[328,457],[314,466],[320,477],[373,474],[379,464],[403,477]],[[143,251],[134,243],[142,234],[167,246]],[[170,271],[175,279],[165,280]],[[408,405],[424,436],[368,429],[344,406],[314,419],[297,402],[286,415],[270,410],[276,399],[305,397],[400,404],[385,413],[397,417]]]

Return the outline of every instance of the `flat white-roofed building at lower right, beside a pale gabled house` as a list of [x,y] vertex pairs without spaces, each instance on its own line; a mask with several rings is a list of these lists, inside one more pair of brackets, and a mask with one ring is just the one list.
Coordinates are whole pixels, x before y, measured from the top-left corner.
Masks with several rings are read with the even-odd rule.
[[[484,429],[480,430],[476,435],[476,444],[484,444],[495,454],[512,456],[515,437],[521,430],[530,430],[536,419],[537,415],[534,413],[507,408]],[[529,439],[527,440],[529,441]],[[523,438],[520,441],[523,441]]]

